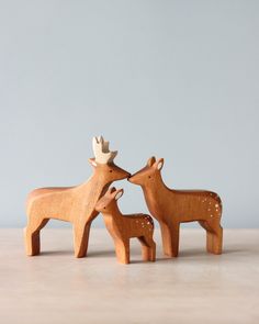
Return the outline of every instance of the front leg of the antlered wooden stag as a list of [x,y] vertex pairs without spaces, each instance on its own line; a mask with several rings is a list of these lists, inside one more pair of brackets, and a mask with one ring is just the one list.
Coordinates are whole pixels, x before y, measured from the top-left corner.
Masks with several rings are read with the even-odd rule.
[[75,246],[75,256],[77,258],[83,258],[87,255],[90,227],[91,227],[91,222],[87,224],[81,224],[81,223],[74,224],[74,246]]

